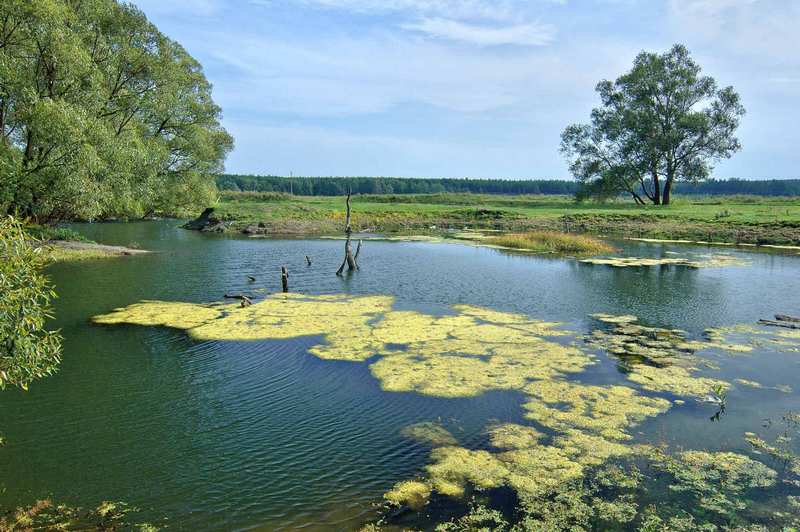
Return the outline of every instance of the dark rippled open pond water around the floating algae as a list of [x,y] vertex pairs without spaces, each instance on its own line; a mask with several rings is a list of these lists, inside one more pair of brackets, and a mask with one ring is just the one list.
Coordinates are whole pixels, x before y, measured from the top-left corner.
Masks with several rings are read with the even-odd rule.
[[[594,312],[635,314],[693,335],[800,315],[800,256],[720,248],[625,244],[625,253],[732,253],[745,267],[622,268],[456,244],[365,242],[362,271],[336,277],[342,243],[202,235],[174,222],[77,226],[107,244],[156,253],[58,264],[55,327],[64,360],[23,393],[0,394],[0,507],[53,497],[78,505],[124,500],[177,529],[352,529],[371,503],[424,467],[429,449],[402,427],[441,420],[463,444],[487,420],[520,420],[520,398],[386,393],[367,364],[319,360],[317,339],[196,342],[179,331],[98,327],[91,316],[142,299],[206,302],[226,292],[390,294],[425,311],[469,303],[563,321],[578,332]],[[305,265],[304,256],[313,259]],[[723,378],[794,384],[800,354],[728,357]],[[606,361],[599,381],[619,379]],[[795,386],[798,388],[799,386]],[[641,427],[688,447],[743,448],[742,432],[800,409],[800,395],[735,389],[723,423],[702,406],[675,408]]]

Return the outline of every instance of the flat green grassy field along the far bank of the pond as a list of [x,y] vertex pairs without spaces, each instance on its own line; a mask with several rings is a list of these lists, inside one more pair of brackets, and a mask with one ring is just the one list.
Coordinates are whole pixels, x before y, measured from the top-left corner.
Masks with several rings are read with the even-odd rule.
[[[352,201],[355,231],[437,233],[492,229],[600,236],[800,245],[800,198],[676,197],[669,206],[629,201],[577,203],[568,196],[478,194],[361,195]],[[344,198],[224,192],[215,215],[251,234],[340,234]]]

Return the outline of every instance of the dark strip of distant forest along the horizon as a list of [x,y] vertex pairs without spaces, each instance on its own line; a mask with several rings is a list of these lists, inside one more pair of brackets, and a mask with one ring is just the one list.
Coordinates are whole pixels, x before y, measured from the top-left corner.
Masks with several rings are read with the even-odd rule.
[[[223,174],[220,190],[285,192],[299,196],[340,196],[348,187],[354,194],[575,194],[580,184],[560,179],[514,181],[508,179],[416,179],[399,177],[279,177]],[[709,179],[701,183],[676,183],[678,194],[798,196],[800,179]]]

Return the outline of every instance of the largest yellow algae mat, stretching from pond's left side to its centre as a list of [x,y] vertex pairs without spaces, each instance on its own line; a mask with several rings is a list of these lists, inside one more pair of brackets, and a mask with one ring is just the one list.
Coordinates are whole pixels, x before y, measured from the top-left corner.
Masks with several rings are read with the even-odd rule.
[[[370,366],[384,390],[469,397],[519,390],[532,379],[582,371],[592,357],[546,339],[557,323],[470,305],[452,315],[393,311],[388,296],[277,294],[251,306],[150,301],[94,318],[103,324],[161,325],[199,340],[322,336],[309,352],[327,360],[380,360]],[[401,349],[397,349],[400,346]]]

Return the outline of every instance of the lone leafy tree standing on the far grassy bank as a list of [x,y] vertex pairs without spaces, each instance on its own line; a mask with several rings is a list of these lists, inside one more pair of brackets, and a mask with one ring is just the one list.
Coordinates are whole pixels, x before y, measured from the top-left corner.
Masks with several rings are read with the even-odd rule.
[[714,162],[741,147],[734,136],[745,112],[739,95],[702,76],[682,45],[640,53],[630,72],[596,91],[602,105],[590,123],[561,135],[572,174],[595,195],[667,205],[677,181],[708,178]]

